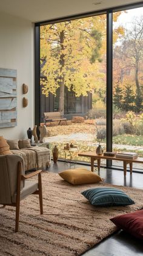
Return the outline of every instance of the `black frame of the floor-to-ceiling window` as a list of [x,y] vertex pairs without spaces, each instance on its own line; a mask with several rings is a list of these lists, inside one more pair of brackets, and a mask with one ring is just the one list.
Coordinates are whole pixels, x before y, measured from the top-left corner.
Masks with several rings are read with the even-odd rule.
[[[113,13],[122,10],[130,10],[143,7],[143,2],[121,5],[110,9],[95,12],[70,15],[53,20],[35,23],[35,124],[40,126],[41,97],[40,97],[40,26],[62,21],[76,20],[96,15],[107,15],[107,103],[106,103],[106,149],[112,151],[113,144]],[[107,166],[111,166],[111,160],[107,160]]]

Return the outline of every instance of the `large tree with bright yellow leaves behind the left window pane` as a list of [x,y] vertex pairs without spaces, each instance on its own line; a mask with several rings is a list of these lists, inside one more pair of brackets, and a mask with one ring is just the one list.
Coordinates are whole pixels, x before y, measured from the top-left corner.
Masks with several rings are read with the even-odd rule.
[[[115,40],[122,30],[119,29],[116,29]],[[41,26],[42,94],[56,95],[59,88],[62,115],[65,86],[72,89],[76,97],[87,96],[98,84],[98,77],[102,79],[98,63],[105,54],[105,38],[106,15]]]

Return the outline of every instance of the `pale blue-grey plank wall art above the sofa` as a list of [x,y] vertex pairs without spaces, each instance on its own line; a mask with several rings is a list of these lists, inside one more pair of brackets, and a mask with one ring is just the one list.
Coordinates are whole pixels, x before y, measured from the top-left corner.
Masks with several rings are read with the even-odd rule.
[[0,68],[0,128],[17,125],[17,71]]

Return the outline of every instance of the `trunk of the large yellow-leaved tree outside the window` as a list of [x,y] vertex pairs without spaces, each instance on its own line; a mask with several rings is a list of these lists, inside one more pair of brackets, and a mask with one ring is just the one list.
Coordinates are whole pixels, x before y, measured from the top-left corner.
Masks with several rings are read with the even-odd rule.
[[[64,30],[60,32],[60,43],[61,43],[61,56],[60,56],[60,64],[61,64],[61,73],[62,69],[64,68],[64,54],[62,51],[64,50]],[[61,115],[64,115],[64,74],[61,75],[60,77],[60,82],[59,82],[59,112]]]

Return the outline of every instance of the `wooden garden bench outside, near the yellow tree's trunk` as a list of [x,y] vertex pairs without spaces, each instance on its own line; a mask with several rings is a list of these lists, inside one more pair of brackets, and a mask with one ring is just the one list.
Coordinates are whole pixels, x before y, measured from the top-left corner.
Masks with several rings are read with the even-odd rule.
[[59,122],[58,124],[61,124],[61,121],[66,121],[67,123],[67,118],[64,118],[60,112],[45,112],[44,119],[45,119],[45,124],[52,123],[55,121],[58,121]]

